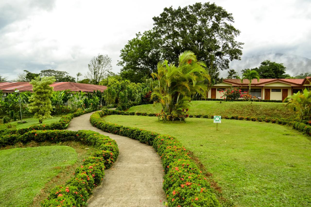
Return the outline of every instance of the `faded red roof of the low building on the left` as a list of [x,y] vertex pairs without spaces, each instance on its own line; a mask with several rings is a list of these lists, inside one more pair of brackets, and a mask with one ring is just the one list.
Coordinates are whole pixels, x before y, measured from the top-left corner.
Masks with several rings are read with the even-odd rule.
[[[92,85],[84,83],[72,83],[72,82],[54,82],[52,85],[54,90],[71,90],[71,91],[83,91],[83,92],[93,92],[94,90],[100,90],[103,92],[107,89],[105,85]],[[32,91],[32,85],[29,82],[4,82],[0,83],[0,90],[5,91]]]

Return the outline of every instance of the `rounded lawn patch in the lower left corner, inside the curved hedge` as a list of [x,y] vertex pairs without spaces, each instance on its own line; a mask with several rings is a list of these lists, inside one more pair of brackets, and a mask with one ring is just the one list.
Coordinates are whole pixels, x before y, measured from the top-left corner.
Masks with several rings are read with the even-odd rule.
[[1,206],[29,206],[44,184],[77,161],[68,146],[0,150]]

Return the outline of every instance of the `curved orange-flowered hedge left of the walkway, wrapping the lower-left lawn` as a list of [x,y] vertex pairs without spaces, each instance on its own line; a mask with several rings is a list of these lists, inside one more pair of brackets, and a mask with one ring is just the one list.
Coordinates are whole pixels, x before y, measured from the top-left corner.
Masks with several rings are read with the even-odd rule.
[[104,177],[104,169],[109,168],[117,159],[119,150],[115,140],[90,130],[32,130],[16,135],[14,142],[30,141],[52,143],[63,141],[81,141],[93,146],[96,151],[83,160],[65,185],[56,186],[50,191],[48,199],[41,204],[48,206],[85,206],[92,189],[100,184]]

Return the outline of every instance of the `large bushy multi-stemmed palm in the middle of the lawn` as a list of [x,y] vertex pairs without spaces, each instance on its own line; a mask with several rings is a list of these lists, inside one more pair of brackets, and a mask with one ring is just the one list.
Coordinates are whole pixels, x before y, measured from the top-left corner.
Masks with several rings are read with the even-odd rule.
[[210,81],[210,76],[205,63],[197,61],[193,52],[181,53],[178,67],[164,60],[158,62],[157,69],[158,73],[151,74],[158,81],[151,98],[159,99],[167,120],[183,119],[183,109],[188,108],[193,92],[206,97],[207,85],[204,80]]

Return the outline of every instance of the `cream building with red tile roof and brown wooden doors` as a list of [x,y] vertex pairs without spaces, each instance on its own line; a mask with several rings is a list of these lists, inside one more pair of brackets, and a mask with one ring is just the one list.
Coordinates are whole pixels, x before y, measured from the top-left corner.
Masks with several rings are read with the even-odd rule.
[[[249,81],[244,79],[224,79],[222,83],[211,87],[208,97],[211,99],[223,98],[223,90],[230,87],[239,87],[242,92],[248,92]],[[310,89],[311,77],[304,79],[253,79],[250,94],[258,99],[284,100],[287,96],[297,93],[304,88]]]

